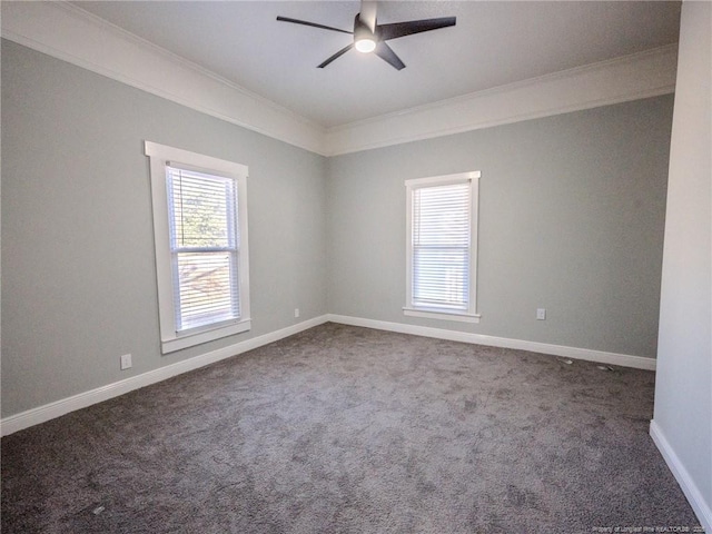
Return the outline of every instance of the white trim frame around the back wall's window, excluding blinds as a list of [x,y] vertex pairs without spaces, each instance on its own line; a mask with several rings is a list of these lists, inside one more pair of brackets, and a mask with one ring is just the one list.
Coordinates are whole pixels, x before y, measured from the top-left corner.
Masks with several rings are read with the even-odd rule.
[[[405,180],[406,187],[406,305],[403,314],[409,317],[453,320],[459,323],[479,323],[477,310],[477,231],[479,208],[479,177],[482,172],[473,170],[454,175],[433,176]],[[447,312],[439,308],[413,306],[413,191],[424,186],[446,186],[449,184],[472,184],[471,228],[469,228],[469,308],[465,312]]]

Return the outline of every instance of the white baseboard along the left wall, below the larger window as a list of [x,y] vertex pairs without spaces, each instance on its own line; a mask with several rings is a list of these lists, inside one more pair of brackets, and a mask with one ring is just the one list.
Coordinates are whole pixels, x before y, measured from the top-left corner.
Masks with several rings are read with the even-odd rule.
[[176,375],[180,375],[199,367],[205,367],[206,365],[214,364],[215,362],[261,347],[268,343],[277,342],[294,334],[298,334],[299,332],[322,325],[326,322],[327,316],[315,317],[280,330],[236,343],[229,347],[211,350],[190,359],[177,362],[155,370],[149,370],[148,373],[126,378],[125,380],[115,382],[113,384],[97,387],[89,392],[72,395],[71,397],[62,398],[37,408],[28,409],[20,414],[11,415],[0,421],[0,435],[7,436],[23,428],[39,425],[40,423],[60,417],[70,412],[118,397],[119,395],[132,392],[139,387],[149,386]]

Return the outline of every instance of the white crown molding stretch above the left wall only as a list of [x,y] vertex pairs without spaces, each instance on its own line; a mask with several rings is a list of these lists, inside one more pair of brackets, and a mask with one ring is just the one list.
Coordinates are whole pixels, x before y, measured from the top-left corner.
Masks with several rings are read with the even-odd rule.
[[323,154],[322,126],[68,2],[2,2],[2,37],[206,115]]

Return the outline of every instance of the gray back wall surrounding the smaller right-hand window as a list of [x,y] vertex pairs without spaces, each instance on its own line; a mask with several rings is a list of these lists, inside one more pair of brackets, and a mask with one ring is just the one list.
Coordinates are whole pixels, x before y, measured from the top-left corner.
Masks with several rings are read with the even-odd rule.
[[[329,312],[655,357],[672,103],[657,97],[330,158]],[[404,180],[465,170],[482,171],[482,320],[404,317]]]

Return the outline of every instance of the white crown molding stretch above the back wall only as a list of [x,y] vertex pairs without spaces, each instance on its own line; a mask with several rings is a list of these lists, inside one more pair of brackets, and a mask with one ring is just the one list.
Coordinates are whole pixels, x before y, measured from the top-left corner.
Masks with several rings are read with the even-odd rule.
[[672,93],[678,44],[532,78],[327,129],[326,155],[369,150],[463,131]]

